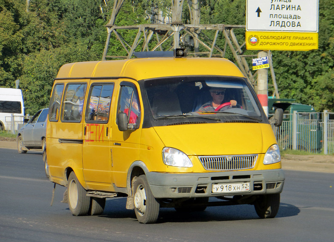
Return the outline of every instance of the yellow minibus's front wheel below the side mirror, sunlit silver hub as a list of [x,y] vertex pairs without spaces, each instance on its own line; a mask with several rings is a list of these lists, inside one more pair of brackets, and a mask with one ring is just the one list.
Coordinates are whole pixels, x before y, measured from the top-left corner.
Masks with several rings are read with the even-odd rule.
[[145,175],[137,178],[134,184],[135,214],[141,224],[154,224],[159,215],[160,204],[153,196]]

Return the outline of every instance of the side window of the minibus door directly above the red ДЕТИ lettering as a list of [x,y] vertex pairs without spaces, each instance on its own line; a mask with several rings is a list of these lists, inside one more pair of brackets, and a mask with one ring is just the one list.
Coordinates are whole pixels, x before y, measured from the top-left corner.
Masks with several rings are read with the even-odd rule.
[[110,113],[114,84],[93,85],[86,109],[86,122],[107,123]]

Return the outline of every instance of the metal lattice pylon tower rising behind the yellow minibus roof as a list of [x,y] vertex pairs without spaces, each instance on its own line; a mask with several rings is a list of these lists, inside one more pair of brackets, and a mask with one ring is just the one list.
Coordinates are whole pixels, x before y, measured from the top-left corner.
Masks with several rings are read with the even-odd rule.
[[[124,0],[115,0],[112,15],[110,21],[106,25],[107,27],[107,40],[103,52],[102,60],[106,58],[125,58],[129,59],[133,56],[135,49],[140,46],[141,51],[156,51],[156,50],[172,50],[179,48],[180,42],[184,41],[188,37],[193,39],[193,52],[187,52],[189,56],[205,56],[205,57],[225,57],[226,49],[229,48],[235,58],[235,61],[240,68],[241,72],[247,77],[249,83],[251,83],[255,89],[257,89],[256,76],[257,72],[253,74],[246,61],[246,57],[256,57],[257,55],[244,55],[246,50],[245,41],[239,45],[236,35],[233,29],[242,28],[245,29],[245,25],[230,25],[230,24],[199,24],[200,22],[200,9],[199,0],[186,0],[188,8],[190,10],[191,24],[182,23],[182,5],[184,0],[172,0],[172,21],[170,24],[140,24],[130,26],[117,26],[115,20],[118,12],[120,11]],[[120,34],[119,30],[132,30],[136,31],[136,37],[132,43],[128,43]],[[182,35],[180,36],[180,32]],[[213,39],[210,39],[206,34],[206,31],[214,31]],[[223,49],[216,45],[219,32],[222,32],[225,38],[225,46]],[[163,36],[161,37],[161,33]],[[109,41],[111,35],[114,34],[118,41],[126,51],[126,56],[110,56],[107,55]],[[160,34],[160,37],[159,37]],[[173,44],[164,46],[167,40],[173,39]],[[154,47],[149,48],[149,43],[156,43]],[[199,46],[202,46],[206,51],[199,51]],[[213,51],[215,50],[215,54]],[[271,54],[269,53],[269,61],[271,62]],[[272,63],[270,63],[272,66]],[[272,69],[272,68],[271,68]],[[272,77],[275,88],[275,94],[279,97],[274,70],[272,69]]]

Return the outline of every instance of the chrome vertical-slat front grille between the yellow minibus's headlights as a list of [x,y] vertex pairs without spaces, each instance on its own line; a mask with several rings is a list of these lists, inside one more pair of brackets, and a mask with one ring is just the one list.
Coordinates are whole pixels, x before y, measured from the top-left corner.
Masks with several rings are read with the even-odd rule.
[[205,170],[231,171],[254,168],[258,155],[200,156],[198,158]]

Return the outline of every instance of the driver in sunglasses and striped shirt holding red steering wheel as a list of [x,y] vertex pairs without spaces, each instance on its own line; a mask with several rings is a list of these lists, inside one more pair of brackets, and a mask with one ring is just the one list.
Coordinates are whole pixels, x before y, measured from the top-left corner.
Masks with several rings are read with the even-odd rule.
[[[209,91],[210,91],[210,95],[212,97],[212,100],[204,103],[198,109],[198,111],[200,111],[200,112],[222,111],[222,110],[231,108],[232,106],[235,106],[236,105],[236,100],[229,100],[229,101],[224,100],[225,90],[226,90],[226,88],[217,88],[217,87],[211,88]],[[226,102],[230,102],[231,104],[223,106],[218,110],[215,110],[218,106],[220,106],[221,104],[226,103]]]

